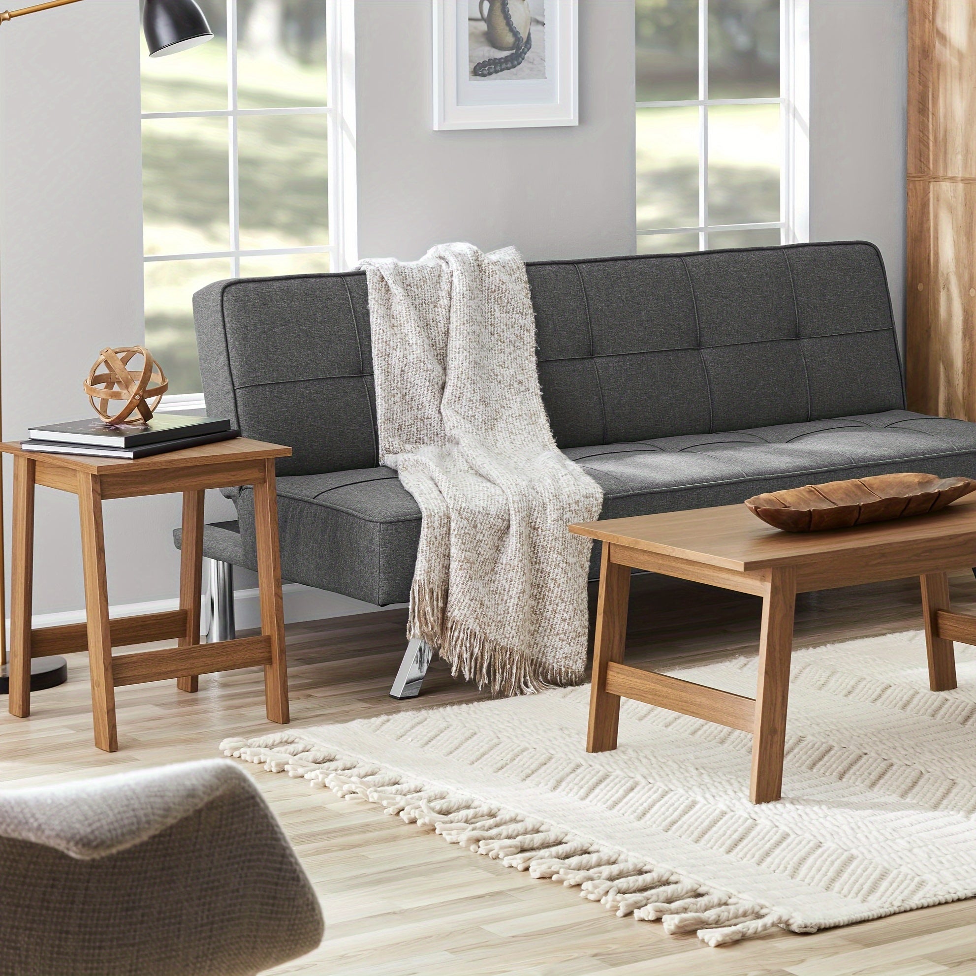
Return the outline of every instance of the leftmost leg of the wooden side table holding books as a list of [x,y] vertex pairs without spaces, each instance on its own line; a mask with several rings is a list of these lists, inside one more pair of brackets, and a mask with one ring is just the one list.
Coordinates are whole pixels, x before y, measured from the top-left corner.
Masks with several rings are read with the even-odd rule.
[[14,458],[14,546],[11,552],[10,702],[12,715],[30,714],[30,617],[34,581],[34,470]]

